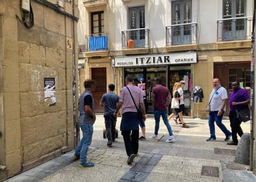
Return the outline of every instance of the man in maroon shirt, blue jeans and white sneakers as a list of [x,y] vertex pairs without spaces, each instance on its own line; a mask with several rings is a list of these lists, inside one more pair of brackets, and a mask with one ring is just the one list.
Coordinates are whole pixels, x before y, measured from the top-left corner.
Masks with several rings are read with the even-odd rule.
[[162,116],[164,120],[164,124],[167,127],[169,132],[169,137],[166,142],[175,142],[175,137],[173,136],[173,131],[171,130],[171,126],[167,119],[167,107],[169,103],[171,103],[171,94],[165,86],[161,85],[161,79],[155,79],[156,86],[153,87],[152,90],[152,100],[154,106],[154,116],[155,116],[155,134],[151,136],[152,139],[157,139],[160,117]]

